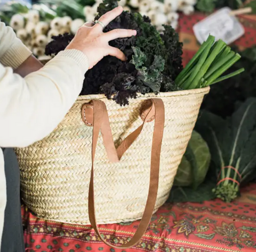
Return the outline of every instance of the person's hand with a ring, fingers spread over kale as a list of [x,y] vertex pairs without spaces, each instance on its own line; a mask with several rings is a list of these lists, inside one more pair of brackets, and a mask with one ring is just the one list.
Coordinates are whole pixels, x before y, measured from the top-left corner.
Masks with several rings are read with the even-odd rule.
[[82,26],[66,49],[82,51],[88,58],[89,69],[93,68],[94,65],[107,55],[115,56],[119,58],[119,60],[125,61],[126,57],[124,53],[118,48],[109,46],[108,42],[116,38],[135,36],[137,32],[135,30],[126,29],[115,29],[109,32],[103,32],[102,27],[103,25],[107,26],[109,22],[114,20],[122,12],[123,8],[118,6],[101,16],[99,19],[101,24],[96,23],[92,27]]

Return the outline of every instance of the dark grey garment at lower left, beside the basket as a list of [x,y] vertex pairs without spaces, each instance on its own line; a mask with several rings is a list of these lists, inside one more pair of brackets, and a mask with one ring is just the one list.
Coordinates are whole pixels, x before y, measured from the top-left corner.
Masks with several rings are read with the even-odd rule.
[[13,149],[5,148],[4,170],[7,187],[7,204],[1,252],[24,252],[24,239],[20,211],[20,170]]

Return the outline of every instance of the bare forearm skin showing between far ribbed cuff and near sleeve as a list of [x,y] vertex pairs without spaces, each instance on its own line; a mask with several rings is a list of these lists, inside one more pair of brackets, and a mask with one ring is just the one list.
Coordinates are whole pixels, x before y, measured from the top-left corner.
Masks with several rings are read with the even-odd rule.
[[29,73],[38,71],[43,67],[43,64],[37,60],[33,55],[27,58],[17,69],[14,70],[14,73],[18,73],[21,77],[27,76]]

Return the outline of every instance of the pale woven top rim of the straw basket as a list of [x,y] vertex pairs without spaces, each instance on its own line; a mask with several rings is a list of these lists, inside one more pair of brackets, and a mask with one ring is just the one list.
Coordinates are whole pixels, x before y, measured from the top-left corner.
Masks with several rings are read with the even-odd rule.
[[[164,97],[177,97],[177,96],[188,96],[188,95],[206,95],[210,91],[210,87],[205,88],[197,88],[197,89],[188,89],[188,90],[179,90],[179,91],[171,91],[171,92],[161,92],[158,95],[154,93],[148,93],[142,95],[140,93],[137,94],[137,98],[135,99],[145,99],[145,98],[164,98]],[[93,94],[93,95],[80,95],[77,100],[88,100],[88,99],[107,99],[107,97],[103,94]],[[133,99],[133,98],[132,98]],[[129,99],[129,100],[132,100]]]

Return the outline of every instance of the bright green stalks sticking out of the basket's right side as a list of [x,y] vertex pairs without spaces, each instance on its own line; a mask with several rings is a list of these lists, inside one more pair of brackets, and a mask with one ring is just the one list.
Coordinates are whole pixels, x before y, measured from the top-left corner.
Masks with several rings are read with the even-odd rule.
[[220,77],[241,56],[231,51],[231,48],[221,39],[215,43],[214,40],[215,38],[210,35],[187,64],[186,68],[175,79],[175,83],[179,87],[182,89],[202,88],[234,77],[244,71],[244,68],[241,68]]

